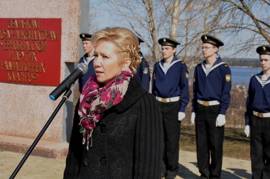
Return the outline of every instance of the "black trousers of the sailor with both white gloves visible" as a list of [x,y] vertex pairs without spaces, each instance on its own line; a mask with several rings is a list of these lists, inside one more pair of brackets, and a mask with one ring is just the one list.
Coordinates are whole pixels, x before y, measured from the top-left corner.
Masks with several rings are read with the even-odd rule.
[[198,103],[196,105],[195,128],[200,179],[221,177],[224,126],[216,128],[219,106],[203,106]]

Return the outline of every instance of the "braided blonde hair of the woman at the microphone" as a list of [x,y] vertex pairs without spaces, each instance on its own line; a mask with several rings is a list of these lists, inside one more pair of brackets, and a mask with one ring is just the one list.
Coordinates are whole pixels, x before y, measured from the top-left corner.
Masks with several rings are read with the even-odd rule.
[[129,68],[132,73],[136,73],[136,68],[141,62],[139,56],[139,41],[137,36],[129,29],[124,27],[107,27],[94,33],[91,43],[95,47],[101,41],[109,41],[117,47],[120,56],[119,63],[130,58],[131,64]]

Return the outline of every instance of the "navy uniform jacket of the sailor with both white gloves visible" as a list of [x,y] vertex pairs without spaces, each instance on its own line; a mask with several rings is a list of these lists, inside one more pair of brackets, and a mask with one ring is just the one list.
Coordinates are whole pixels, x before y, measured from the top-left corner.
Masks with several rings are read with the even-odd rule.
[[194,104],[197,100],[217,100],[220,102],[219,114],[225,115],[231,101],[231,70],[221,59],[216,59],[207,77],[205,72],[203,61],[194,70],[192,112],[196,112]]

